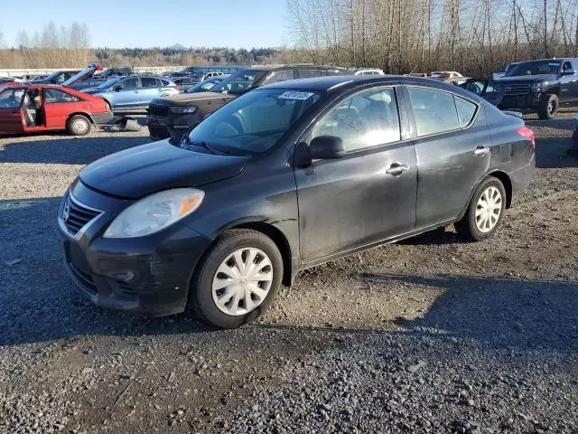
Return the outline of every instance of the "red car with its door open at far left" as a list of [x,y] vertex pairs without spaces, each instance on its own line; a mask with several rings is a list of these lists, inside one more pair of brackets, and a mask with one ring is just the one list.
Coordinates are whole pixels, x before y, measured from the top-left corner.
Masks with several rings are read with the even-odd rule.
[[53,84],[0,87],[0,134],[67,130],[85,136],[112,118],[104,99],[78,90]]

